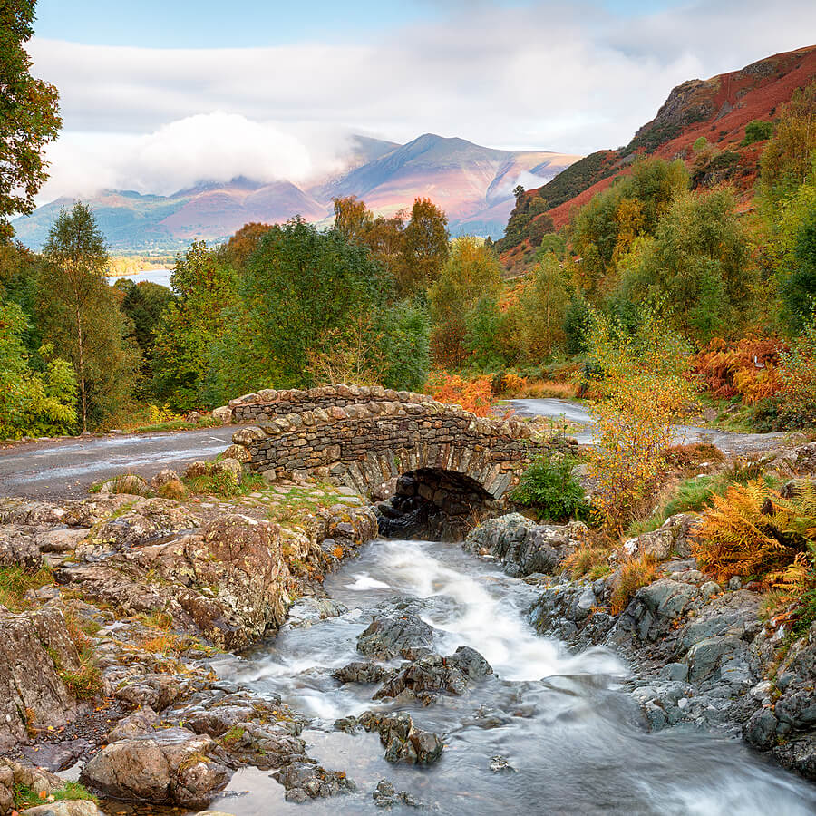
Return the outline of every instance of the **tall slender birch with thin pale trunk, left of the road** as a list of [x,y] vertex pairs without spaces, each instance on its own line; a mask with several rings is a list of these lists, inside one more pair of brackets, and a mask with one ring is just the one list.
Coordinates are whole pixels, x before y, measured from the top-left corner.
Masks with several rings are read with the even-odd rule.
[[45,240],[40,279],[44,335],[66,354],[79,382],[80,422],[100,423],[131,395],[138,353],[124,342],[121,312],[107,285],[108,253],[91,209],[63,209]]

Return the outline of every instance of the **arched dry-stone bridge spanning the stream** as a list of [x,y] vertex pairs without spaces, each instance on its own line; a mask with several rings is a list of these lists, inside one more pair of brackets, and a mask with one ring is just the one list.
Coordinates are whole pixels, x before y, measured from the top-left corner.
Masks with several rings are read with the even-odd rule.
[[477,519],[506,507],[540,444],[518,420],[485,419],[380,386],[267,390],[228,409],[233,422],[252,423],[233,442],[267,480],[313,476],[375,499],[390,486],[393,505],[423,506],[423,518]]

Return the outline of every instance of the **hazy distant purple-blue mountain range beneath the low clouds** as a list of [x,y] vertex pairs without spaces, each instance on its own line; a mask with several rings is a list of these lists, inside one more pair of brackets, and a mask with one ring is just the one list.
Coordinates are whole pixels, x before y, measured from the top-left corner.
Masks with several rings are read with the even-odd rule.
[[[513,188],[538,186],[578,156],[549,151],[500,151],[463,139],[426,134],[400,145],[356,136],[345,170],[302,189],[287,180],[202,182],[170,196],[102,190],[88,200],[114,252],[176,250],[203,238],[223,241],[249,221],[276,223],[295,215],[328,219],[335,196],[356,195],[378,214],[410,209],[432,199],[448,214],[452,233],[498,238],[507,222]],[[41,248],[53,219],[73,199],[63,198],[15,219],[16,238]]]

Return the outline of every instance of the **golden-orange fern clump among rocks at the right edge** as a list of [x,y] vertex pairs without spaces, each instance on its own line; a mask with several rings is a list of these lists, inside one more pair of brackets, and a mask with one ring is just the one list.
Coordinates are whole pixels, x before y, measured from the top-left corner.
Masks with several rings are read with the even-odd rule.
[[790,567],[816,539],[816,486],[802,482],[792,498],[760,480],[712,496],[692,546],[700,568],[719,581],[760,578]]

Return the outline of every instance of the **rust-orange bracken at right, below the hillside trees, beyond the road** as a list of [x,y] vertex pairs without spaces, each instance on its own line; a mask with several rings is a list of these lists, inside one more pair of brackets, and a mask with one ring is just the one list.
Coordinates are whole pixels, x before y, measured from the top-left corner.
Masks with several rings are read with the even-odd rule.
[[771,337],[712,340],[692,358],[692,374],[715,397],[739,395],[753,405],[782,390],[779,362],[784,348]]

